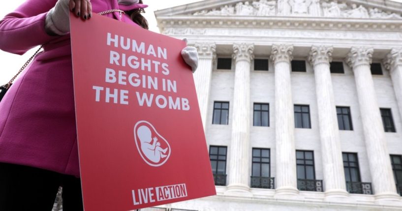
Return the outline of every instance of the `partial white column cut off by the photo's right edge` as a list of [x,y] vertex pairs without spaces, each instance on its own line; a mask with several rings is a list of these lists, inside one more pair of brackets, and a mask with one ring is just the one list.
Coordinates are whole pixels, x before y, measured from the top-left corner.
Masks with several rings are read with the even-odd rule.
[[391,73],[398,110],[402,119],[402,49],[392,49],[384,60],[385,68]]

